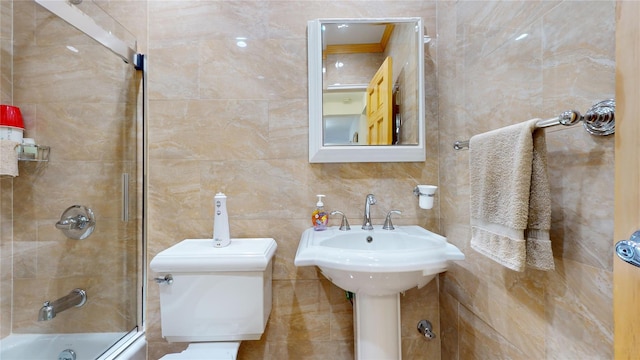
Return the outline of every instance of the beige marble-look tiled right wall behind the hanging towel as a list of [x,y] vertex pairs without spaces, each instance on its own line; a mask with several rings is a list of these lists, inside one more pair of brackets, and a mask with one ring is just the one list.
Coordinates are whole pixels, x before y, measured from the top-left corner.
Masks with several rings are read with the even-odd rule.
[[444,276],[442,359],[613,357],[613,137],[547,130],[548,273],[516,273],[469,247],[469,157],[451,144],[612,98],[614,10],[613,1],[438,2],[442,228],[467,255]]

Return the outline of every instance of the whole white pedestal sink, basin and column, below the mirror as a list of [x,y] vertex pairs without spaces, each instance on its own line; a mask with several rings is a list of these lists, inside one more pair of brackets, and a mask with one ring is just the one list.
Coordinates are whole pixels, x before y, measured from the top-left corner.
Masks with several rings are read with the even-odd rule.
[[420,226],[394,230],[305,230],[296,266],[317,266],[335,285],[356,294],[355,358],[401,359],[400,292],[422,287],[464,254]]

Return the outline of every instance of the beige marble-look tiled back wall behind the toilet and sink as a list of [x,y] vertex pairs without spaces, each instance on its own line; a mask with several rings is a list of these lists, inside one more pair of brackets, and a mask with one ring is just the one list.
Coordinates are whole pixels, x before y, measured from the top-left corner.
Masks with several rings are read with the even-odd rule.
[[[425,163],[311,165],[307,152],[307,20],[422,16],[434,32],[435,9],[414,1],[149,2],[149,258],[184,238],[211,237],[217,191],[228,196],[232,236],[278,242],[271,318],[261,341],[243,342],[240,358],[353,358],[344,292],[293,265],[315,194],[326,194],[325,206],[344,211],[352,226],[374,193],[375,223],[397,208],[398,224],[439,230],[437,209],[418,209],[411,193],[438,179],[434,103]],[[246,48],[235,45],[240,36]],[[150,359],[185,347],[161,338],[157,296],[150,283]],[[437,282],[402,302],[404,354],[439,358],[439,341],[415,330],[423,318],[438,323]]]

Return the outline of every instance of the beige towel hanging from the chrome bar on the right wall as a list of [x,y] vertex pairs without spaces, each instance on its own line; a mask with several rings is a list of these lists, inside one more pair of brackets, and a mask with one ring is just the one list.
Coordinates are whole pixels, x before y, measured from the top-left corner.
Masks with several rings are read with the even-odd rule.
[[551,198],[539,119],[469,140],[471,247],[516,271],[553,270]]

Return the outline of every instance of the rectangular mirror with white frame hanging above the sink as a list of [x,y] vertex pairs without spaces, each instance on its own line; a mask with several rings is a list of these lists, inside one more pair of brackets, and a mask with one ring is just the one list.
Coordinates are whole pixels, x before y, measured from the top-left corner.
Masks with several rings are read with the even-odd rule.
[[308,22],[309,162],[424,161],[420,18]]

